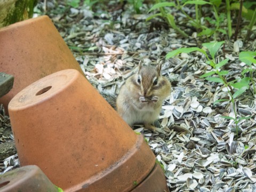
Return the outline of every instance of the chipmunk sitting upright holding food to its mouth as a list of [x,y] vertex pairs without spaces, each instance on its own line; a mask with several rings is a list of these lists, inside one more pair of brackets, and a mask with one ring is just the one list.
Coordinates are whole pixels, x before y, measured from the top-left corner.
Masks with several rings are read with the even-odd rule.
[[143,123],[145,128],[155,132],[161,129],[152,125],[160,113],[163,100],[171,93],[171,83],[161,75],[162,64],[156,68],[142,66],[138,72],[127,78],[117,96],[118,114],[132,126]]

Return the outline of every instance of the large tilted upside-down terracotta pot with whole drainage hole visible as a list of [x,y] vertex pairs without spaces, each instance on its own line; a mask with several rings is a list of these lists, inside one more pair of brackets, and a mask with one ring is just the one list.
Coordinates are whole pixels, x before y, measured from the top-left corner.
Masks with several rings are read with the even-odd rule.
[[[63,190],[131,191],[154,170],[142,135],[77,70],[29,85],[9,113],[20,164],[38,165]],[[167,189],[165,179],[156,185]]]

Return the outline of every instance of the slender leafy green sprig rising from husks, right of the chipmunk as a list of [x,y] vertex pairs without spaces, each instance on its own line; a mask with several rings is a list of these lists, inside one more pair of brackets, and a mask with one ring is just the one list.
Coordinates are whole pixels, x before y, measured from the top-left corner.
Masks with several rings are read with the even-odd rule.
[[[201,78],[205,78],[207,81],[221,83],[221,84],[225,85],[225,87],[227,88],[230,99],[217,100],[213,103],[213,105],[215,105],[215,103],[217,103],[217,102],[222,102],[222,101],[230,101],[231,102],[231,105],[233,106],[233,110],[234,110],[234,117],[231,117],[231,116],[221,116],[221,117],[226,118],[226,119],[232,119],[234,121],[234,123],[236,124],[236,135],[238,137],[239,121],[241,121],[242,119],[249,119],[251,117],[238,117],[237,116],[235,99],[239,95],[244,93],[247,89],[249,89],[249,79],[247,77],[244,77],[244,78],[239,79],[239,82],[238,82],[238,80],[232,81],[232,82],[227,82],[225,76],[229,72],[227,70],[221,70],[221,68],[228,63],[229,59],[222,60],[218,63],[216,63],[216,60],[215,60],[215,54],[220,49],[220,47],[222,46],[223,43],[225,43],[225,42],[222,41],[222,42],[213,42],[213,43],[204,43],[203,44],[203,46],[206,47],[206,49],[210,52],[211,58],[208,56],[208,54],[206,53],[205,50],[199,49],[198,47],[189,47],[189,48],[181,48],[181,49],[169,52],[166,55],[166,59],[174,57],[175,55],[180,54],[180,53],[190,53],[193,51],[199,51],[205,55],[205,57],[207,59],[206,63],[212,67],[212,71],[202,75]],[[255,54],[255,52],[253,52],[253,53]],[[242,60],[247,60],[248,62],[249,61],[254,62],[255,59],[251,58],[251,55],[249,55],[249,57],[243,57]],[[247,70],[247,71],[250,71],[250,70]],[[233,87],[236,89],[236,91],[233,90]]]

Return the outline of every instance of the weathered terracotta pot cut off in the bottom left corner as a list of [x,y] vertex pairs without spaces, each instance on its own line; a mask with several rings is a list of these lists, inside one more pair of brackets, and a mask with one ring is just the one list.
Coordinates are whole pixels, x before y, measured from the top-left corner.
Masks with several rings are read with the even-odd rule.
[[0,177],[1,192],[58,192],[58,188],[36,165],[28,165],[9,171]]

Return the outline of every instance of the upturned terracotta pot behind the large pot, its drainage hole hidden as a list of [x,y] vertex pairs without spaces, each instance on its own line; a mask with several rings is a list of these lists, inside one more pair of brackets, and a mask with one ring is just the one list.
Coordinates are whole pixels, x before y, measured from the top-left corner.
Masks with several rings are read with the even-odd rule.
[[73,54],[47,16],[0,29],[0,72],[14,76],[13,89],[0,98],[7,105],[29,84],[63,69],[77,69]]

